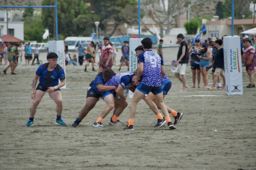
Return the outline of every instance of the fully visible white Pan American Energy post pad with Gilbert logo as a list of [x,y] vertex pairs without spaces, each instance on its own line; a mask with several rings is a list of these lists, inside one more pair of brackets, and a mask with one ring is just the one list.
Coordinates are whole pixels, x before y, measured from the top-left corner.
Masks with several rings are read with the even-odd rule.
[[223,37],[226,94],[243,95],[242,57],[239,36]]

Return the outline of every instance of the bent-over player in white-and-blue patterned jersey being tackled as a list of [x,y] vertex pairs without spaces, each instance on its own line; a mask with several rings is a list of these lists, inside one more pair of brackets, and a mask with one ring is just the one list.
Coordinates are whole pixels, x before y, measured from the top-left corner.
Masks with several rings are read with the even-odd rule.
[[[107,114],[115,108],[114,114],[111,119],[108,121],[110,125],[124,125],[121,121],[119,121],[119,115],[124,111],[124,109],[128,106],[126,102],[126,96],[123,94],[123,89],[129,89],[134,91],[136,75],[133,73],[120,73],[114,75],[110,80],[105,83],[105,85],[113,85],[117,87],[116,91],[106,91],[102,92],[102,96],[104,97],[104,101],[107,104],[107,107],[101,112],[101,115],[93,124],[94,127],[102,128],[103,119],[107,116]],[[116,98],[118,95],[122,100]]]

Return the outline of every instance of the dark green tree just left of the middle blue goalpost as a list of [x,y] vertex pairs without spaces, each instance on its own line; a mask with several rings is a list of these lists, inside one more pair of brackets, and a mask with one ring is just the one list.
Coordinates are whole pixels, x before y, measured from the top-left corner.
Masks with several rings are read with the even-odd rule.
[[[100,17],[99,27],[104,36],[111,37],[122,23],[137,23],[137,0],[88,0],[90,10]],[[107,34],[109,23],[113,23],[111,32]]]

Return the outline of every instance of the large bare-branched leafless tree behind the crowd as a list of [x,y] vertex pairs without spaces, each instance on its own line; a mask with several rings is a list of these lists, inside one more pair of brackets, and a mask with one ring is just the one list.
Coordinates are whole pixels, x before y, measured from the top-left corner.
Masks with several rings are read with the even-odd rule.
[[176,23],[178,17],[187,11],[188,6],[196,6],[203,1],[206,0],[143,0],[142,5],[145,13],[147,12],[145,15],[160,27],[160,36],[163,37],[165,25],[167,26],[166,34],[169,34],[172,29],[171,24]]

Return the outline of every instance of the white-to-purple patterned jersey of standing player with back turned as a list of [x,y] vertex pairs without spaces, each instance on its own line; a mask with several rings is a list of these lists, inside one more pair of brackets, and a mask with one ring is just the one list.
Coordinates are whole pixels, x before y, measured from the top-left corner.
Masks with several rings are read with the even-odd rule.
[[144,63],[143,85],[158,87],[161,85],[161,65],[164,65],[162,58],[152,50],[146,50],[139,54],[138,63]]

